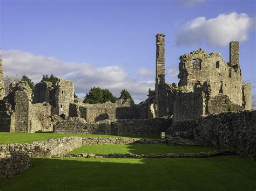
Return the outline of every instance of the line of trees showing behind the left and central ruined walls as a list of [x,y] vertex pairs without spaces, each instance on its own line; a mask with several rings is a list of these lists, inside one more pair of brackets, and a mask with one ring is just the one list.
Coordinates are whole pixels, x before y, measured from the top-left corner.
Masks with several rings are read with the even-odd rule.
[[[59,80],[58,77],[51,74],[50,76],[43,75],[41,82],[51,82],[52,87],[53,87],[53,86],[56,85],[58,80]],[[20,81],[28,82],[29,87],[32,90],[32,95],[31,96],[33,97],[35,84],[26,75],[23,75],[22,77],[6,75],[4,77],[5,95],[8,95],[10,93],[9,92],[9,86],[10,86],[11,82],[16,82],[17,83],[17,82],[20,82]],[[77,95],[74,94],[74,97],[77,98]],[[95,104],[95,103],[105,103],[105,102],[110,101],[112,103],[116,103],[116,101],[118,99],[122,100],[122,102],[125,102],[126,100],[130,100],[130,103],[134,104],[132,96],[129,93],[129,91],[127,91],[127,89],[123,89],[120,92],[120,96],[116,97],[111,93],[111,91],[109,89],[102,89],[102,88],[99,88],[99,87],[91,88],[89,93],[86,93],[83,102],[84,103]]]

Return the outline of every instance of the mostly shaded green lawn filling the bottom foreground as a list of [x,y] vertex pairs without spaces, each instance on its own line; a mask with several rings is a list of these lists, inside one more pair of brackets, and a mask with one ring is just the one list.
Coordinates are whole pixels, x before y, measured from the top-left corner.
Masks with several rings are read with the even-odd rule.
[[0,190],[255,190],[256,163],[205,159],[40,159]]

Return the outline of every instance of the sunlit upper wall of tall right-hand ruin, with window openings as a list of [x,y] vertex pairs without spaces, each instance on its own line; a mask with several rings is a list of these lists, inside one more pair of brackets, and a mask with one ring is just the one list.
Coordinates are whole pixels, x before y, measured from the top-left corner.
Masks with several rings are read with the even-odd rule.
[[219,53],[207,54],[203,49],[180,56],[179,86],[194,91],[197,84],[207,82],[212,97],[227,95],[230,100],[242,105],[242,74],[238,67],[230,67]]

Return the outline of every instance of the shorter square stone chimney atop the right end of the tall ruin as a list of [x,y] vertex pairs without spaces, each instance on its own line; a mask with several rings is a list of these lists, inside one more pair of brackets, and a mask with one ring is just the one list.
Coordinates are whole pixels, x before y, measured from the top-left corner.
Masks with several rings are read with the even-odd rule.
[[239,64],[239,42],[230,42],[230,66],[234,68],[240,68]]

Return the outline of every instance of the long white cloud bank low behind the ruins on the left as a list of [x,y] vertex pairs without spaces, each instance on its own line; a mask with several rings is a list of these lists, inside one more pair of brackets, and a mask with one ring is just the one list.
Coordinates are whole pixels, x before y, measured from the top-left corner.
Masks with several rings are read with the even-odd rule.
[[1,51],[4,75],[27,75],[35,83],[44,74],[53,74],[75,84],[76,94],[83,97],[91,87],[108,88],[116,96],[127,89],[138,101],[147,98],[148,89],[154,88],[153,81],[132,79],[119,66],[97,67],[90,63],[63,62],[54,57],[34,55],[19,50]]

